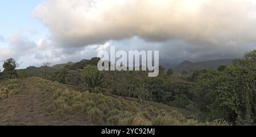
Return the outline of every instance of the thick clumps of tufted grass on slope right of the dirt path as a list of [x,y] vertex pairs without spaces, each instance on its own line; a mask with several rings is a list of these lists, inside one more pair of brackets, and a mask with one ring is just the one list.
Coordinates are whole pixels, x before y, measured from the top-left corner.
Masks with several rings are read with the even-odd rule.
[[[35,81],[35,80],[33,80]],[[44,82],[38,82],[42,85]],[[136,99],[122,99],[104,94],[89,92],[74,92],[65,90],[62,86],[49,85],[56,90],[52,94],[53,104],[47,111],[56,111],[60,118],[66,115],[86,115],[88,121],[95,125],[152,125],[159,115],[168,118],[165,124],[179,125],[187,123],[187,119],[177,113],[172,107],[155,102],[145,102],[144,105]],[[43,88],[43,86],[42,86]],[[203,124],[197,122],[197,124]]]

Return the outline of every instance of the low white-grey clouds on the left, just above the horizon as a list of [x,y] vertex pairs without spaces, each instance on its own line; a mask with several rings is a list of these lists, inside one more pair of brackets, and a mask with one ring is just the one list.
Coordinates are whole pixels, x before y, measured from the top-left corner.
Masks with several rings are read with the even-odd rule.
[[97,56],[97,49],[107,47],[108,44],[57,48],[49,37],[34,41],[27,38],[27,34],[17,32],[10,36],[7,46],[0,46],[0,70],[2,69],[3,61],[10,58],[14,58],[17,61],[19,68],[26,68],[30,65],[39,67],[43,62],[55,65],[67,63],[68,61],[90,59]]

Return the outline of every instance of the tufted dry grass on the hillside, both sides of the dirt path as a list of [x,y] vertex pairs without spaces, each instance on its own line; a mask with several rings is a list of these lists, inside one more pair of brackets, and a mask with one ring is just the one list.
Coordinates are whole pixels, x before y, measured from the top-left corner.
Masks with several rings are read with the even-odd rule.
[[[141,103],[138,99],[124,99],[117,96],[107,96],[102,93],[89,91],[77,92],[76,88],[44,80],[42,78],[27,78],[22,80],[9,80],[1,82],[1,97],[19,96],[26,89],[24,85],[33,85],[38,90],[51,94],[49,104],[45,107],[48,116],[58,115],[60,121],[73,116],[83,118],[89,125],[226,125],[222,121],[198,122],[187,119],[180,109],[146,101]],[[16,92],[15,92],[16,91]],[[30,91],[31,92],[31,91]],[[10,96],[9,96],[10,94]],[[3,98],[3,99],[5,99]],[[1,106],[0,106],[1,107]],[[75,119],[74,119],[75,120]]]

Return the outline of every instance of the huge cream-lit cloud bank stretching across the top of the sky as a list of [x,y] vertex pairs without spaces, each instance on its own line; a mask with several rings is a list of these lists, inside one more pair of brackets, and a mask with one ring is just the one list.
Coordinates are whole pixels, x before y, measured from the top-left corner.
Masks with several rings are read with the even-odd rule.
[[256,41],[255,9],[245,0],[46,0],[33,16],[61,47],[134,36],[220,47]]

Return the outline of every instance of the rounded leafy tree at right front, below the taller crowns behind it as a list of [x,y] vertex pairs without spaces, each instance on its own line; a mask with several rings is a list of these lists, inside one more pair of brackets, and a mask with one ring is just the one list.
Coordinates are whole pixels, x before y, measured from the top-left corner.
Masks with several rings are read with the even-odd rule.
[[[224,118],[232,123],[236,123],[238,116],[240,119],[250,120],[253,117],[254,96],[255,96],[255,73],[243,67],[229,67],[225,69],[225,74],[209,80],[205,83],[209,92],[210,118]],[[247,121],[245,124],[252,124]]]

